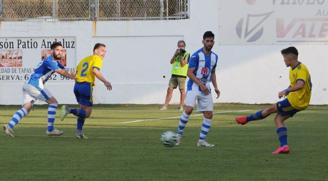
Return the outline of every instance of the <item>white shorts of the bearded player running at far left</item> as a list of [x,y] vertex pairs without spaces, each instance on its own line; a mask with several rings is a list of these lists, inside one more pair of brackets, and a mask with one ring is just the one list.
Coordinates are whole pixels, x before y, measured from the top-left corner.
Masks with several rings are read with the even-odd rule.
[[29,103],[31,101],[32,105],[38,99],[40,102],[48,100],[52,97],[52,94],[45,87],[34,86],[28,83],[23,85],[23,103],[22,105]]

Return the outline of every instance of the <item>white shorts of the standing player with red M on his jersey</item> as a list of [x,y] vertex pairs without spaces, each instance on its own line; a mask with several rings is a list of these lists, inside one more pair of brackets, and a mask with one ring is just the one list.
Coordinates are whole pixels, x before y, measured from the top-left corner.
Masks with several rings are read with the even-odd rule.
[[195,107],[197,101],[197,112],[213,111],[212,94],[204,95],[198,90],[189,90],[186,93],[186,106]]

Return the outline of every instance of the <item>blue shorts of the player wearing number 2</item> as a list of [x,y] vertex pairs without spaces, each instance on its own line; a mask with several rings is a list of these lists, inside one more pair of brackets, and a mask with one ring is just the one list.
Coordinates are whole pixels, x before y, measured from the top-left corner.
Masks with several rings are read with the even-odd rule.
[[92,106],[92,86],[90,82],[75,82],[74,94],[76,101],[85,106]]

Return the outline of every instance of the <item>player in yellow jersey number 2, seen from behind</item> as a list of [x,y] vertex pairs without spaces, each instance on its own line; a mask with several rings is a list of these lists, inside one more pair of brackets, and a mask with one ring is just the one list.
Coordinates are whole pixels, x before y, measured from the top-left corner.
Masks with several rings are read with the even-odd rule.
[[107,90],[112,90],[111,82],[101,75],[100,68],[102,60],[106,54],[106,46],[97,43],[93,48],[93,55],[84,58],[76,68],[74,94],[81,109],[69,108],[66,105],[62,106],[62,114],[60,119],[63,120],[68,113],[77,116],[77,131],[76,138],[87,138],[82,133],[82,127],[85,118],[89,118],[92,111],[92,86],[94,79],[97,77],[100,81],[104,82]]

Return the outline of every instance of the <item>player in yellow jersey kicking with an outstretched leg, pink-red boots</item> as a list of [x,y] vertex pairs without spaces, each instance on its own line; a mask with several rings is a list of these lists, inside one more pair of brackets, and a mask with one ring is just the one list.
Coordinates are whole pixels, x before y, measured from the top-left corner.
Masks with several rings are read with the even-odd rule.
[[284,120],[293,117],[298,111],[305,110],[310,103],[312,82],[311,76],[303,63],[298,62],[298,51],[294,46],[281,50],[284,62],[289,71],[290,86],[279,92],[279,99],[287,96],[286,99],[277,102],[265,110],[258,111],[248,117],[236,117],[239,124],[246,124],[249,121],[264,119],[273,113],[277,113],[275,123],[280,147],[273,154],[288,154],[287,128]]

